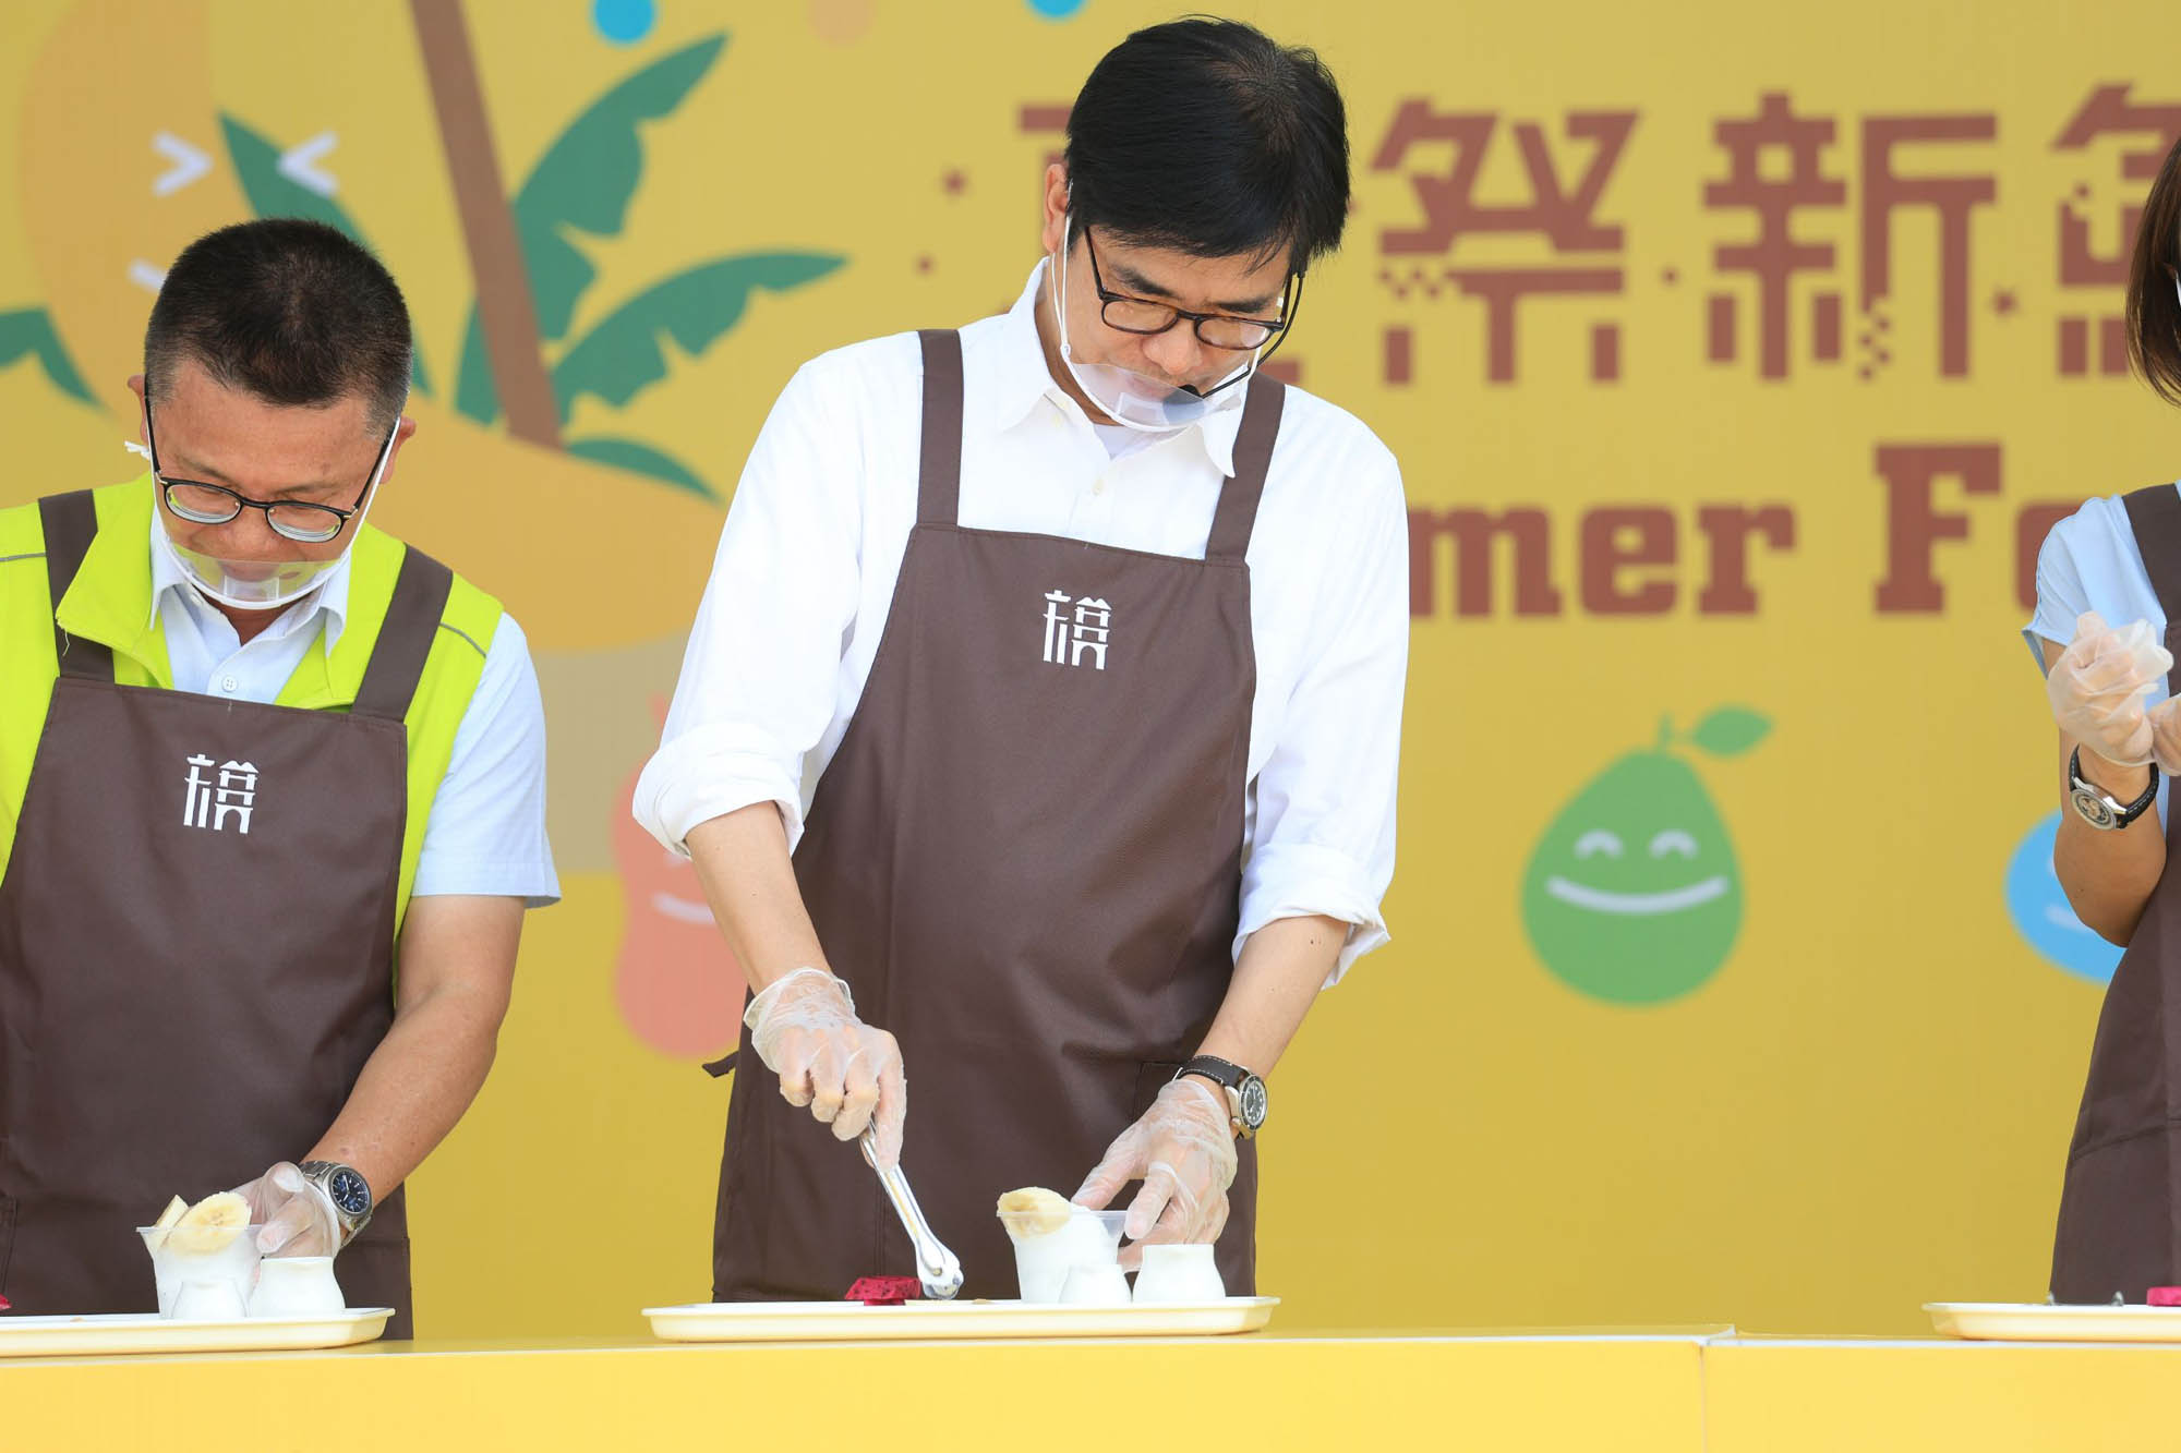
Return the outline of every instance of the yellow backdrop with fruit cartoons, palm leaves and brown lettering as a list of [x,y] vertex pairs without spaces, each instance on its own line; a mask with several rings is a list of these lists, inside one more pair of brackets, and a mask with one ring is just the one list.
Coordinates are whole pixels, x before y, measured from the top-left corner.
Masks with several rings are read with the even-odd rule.
[[[2013,633],[2055,508],[2172,473],[2111,347],[2168,7],[1232,9],[1346,87],[1357,209],[1285,358],[1415,526],[1394,945],[1276,1078],[1265,1289],[1797,1331],[2041,1296],[2111,956],[2052,912]],[[0,504],[131,469],[188,238],[329,216],[419,325],[377,517],[537,652],[567,899],[414,1185],[432,1333],[704,1294],[735,1004],[624,805],[724,500],[800,360],[1014,297],[1067,100],[1169,13],[469,0],[467,57],[393,0],[0,17]],[[530,395],[469,334],[484,137]]]

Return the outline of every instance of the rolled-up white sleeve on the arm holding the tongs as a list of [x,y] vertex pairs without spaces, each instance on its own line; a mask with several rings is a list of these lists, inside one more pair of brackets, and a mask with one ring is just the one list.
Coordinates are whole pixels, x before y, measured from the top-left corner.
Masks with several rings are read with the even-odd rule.
[[757,436],[637,779],[637,822],[683,855],[698,822],[763,801],[790,849],[803,836],[803,757],[833,718],[859,580],[861,445],[835,371],[807,362]]

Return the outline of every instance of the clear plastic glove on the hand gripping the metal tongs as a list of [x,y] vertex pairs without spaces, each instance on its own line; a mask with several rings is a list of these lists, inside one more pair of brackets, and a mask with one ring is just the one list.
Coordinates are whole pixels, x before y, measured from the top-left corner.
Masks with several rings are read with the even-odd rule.
[[901,1126],[909,1117],[901,1045],[855,1017],[846,984],[824,969],[796,969],[750,999],[742,1021],[757,1058],[781,1078],[787,1104],[809,1106],[842,1141],[870,1128],[879,1165],[901,1163]]

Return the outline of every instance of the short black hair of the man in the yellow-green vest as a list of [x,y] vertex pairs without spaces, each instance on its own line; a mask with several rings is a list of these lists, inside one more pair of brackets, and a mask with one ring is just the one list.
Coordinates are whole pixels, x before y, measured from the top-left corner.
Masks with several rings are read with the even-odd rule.
[[371,404],[373,430],[401,412],[410,316],[393,275],[334,227],[264,218],[181,251],[144,327],[144,391],[159,397],[190,358],[268,404]]

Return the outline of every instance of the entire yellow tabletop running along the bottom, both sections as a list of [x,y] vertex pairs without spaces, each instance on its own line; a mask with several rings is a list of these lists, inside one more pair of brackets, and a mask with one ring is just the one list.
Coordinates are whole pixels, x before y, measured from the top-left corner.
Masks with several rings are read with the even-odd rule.
[[[1640,1333],[680,1346],[379,1342],[0,1361],[0,1446],[2170,1446],[2181,1346]],[[323,1438],[321,1438],[323,1436]]]

